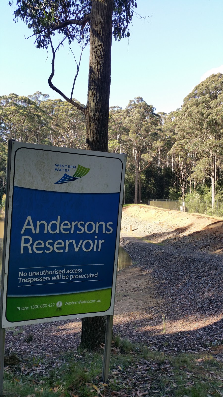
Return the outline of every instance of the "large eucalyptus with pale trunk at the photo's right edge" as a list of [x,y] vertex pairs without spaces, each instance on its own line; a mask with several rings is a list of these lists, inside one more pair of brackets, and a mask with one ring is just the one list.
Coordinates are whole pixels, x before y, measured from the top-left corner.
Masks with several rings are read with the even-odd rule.
[[[223,155],[223,75],[213,74],[186,96],[178,123],[178,139],[186,139],[188,155],[198,158],[194,176],[211,178],[212,208],[217,168]],[[203,172],[201,172],[203,170]]]

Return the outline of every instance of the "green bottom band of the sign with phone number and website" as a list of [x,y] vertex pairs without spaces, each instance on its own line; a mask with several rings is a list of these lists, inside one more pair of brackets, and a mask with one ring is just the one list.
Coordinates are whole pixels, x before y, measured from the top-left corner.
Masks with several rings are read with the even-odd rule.
[[9,322],[104,312],[110,308],[112,289],[34,297],[8,297]]

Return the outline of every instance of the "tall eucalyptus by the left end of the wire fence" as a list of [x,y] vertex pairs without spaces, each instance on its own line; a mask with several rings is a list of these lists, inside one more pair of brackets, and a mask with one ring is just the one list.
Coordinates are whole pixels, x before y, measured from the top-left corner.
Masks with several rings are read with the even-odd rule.
[[[155,108],[148,105],[140,96],[130,100],[125,110],[125,125],[127,127],[126,145],[132,152],[135,168],[135,198],[134,203],[140,200],[139,175],[148,168],[156,155],[153,143],[158,137],[160,116]],[[139,186],[138,186],[139,185]]]

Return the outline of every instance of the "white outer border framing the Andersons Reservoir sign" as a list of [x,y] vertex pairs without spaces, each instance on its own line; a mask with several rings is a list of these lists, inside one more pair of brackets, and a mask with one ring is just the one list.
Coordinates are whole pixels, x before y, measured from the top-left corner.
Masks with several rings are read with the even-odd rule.
[[[114,258],[114,267],[113,267],[113,280],[112,280],[112,295],[111,295],[111,305],[108,310],[98,311],[98,312],[86,312],[86,313],[78,313],[78,314],[66,314],[62,316],[54,316],[54,317],[46,317],[46,318],[35,318],[29,320],[21,320],[9,322],[6,318],[6,293],[7,293],[7,283],[8,283],[8,265],[9,265],[9,253],[10,253],[10,244],[11,244],[11,235],[12,235],[12,210],[13,210],[13,189],[14,189],[14,179],[15,179],[15,153],[18,148],[25,149],[35,149],[46,152],[57,152],[63,154],[77,154],[84,156],[92,157],[100,157],[100,158],[113,158],[118,159],[122,162],[122,172],[121,172],[121,183],[120,183],[120,192],[119,192],[119,208],[118,208],[118,218],[117,218],[117,230],[116,230],[116,240],[115,240],[115,258]],[[6,196],[6,227],[4,232],[4,247],[3,247],[3,263],[2,263],[2,290],[1,293],[1,302],[0,309],[1,311],[1,329],[2,328],[10,328],[19,325],[28,325],[28,324],[40,324],[44,322],[52,322],[52,321],[60,321],[60,320],[69,320],[74,318],[84,318],[91,316],[112,316],[114,309],[114,301],[115,301],[115,286],[116,286],[116,277],[117,277],[117,260],[118,260],[118,250],[119,250],[119,239],[120,239],[120,231],[121,231],[121,213],[122,213],[122,203],[123,203],[123,191],[124,191],[124,181],[125,181],[125,165],[126,165],[126,154],[113,154],[107,152],[96,152],[89,150],[78,150],[78,149],[69,149],[69,148],[61,148],[56,146],[45,146],[45,145],[34,145],[34,144],[25,144],[25,143],[17,143],[15,141],[9,141],[8,146],[8,183],[7,183],[7,196]],[[74,293],[75,294],[75,293]]]

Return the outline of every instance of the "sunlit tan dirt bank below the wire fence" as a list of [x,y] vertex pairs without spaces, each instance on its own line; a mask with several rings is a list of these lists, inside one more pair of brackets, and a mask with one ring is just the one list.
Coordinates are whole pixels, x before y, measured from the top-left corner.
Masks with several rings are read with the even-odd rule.
[[[130,222],[132,232],[129,232]],[[154,243],[178,247],[192,245],[213,254],[223,254],[223,219],[213,216],[130,205],[123,208],[121,232]]]

